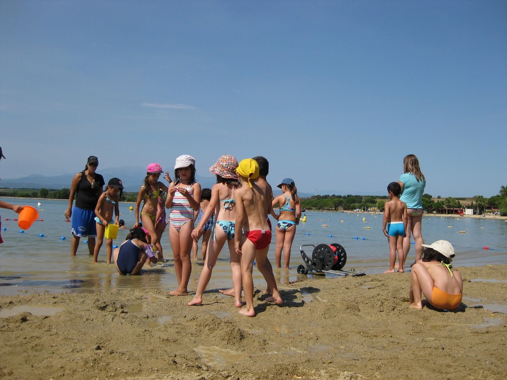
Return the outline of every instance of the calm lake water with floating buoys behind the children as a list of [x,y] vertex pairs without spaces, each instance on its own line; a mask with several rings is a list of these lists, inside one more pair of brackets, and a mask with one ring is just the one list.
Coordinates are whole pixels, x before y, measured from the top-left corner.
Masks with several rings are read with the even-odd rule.
[[[1,209],[2,237],[0,245],[0,295],[49,292],[100,292],[126,288],[176,288],[176,277],[172,260],[146,268],[142,276],[120,276],[114,265],[105,263],[105,244],[102,246],[99,263],[92,263],[88,255],[86,238],[81,239],[78,254],[70,256],[71,224],[65,220],[63,212],[67,201],[8,199],[9,203],[28,205],[39,210],[39,220],[29,230],[20,233],[17,221],[6,220],[17,218],[18,214]],[[38,206],[38,202],[42,205]],[[133,225],[134,212],[129,210],[132,203],[121,203],[121,219],[127,226]],[[366,271],[367,274],[381,273],[388,269],[389,247],[387,238],[382,233],[381,214],[357,214],[350,212],[306,212],[306,223],[297,227],[294,240],[291,269],[275,269],[278,282],[295,281],[306,278],[297,274],[296,268],[301,264],[300,246],[306,244],[342,245],[347,253],[344,270]],[[327,224],[328,226],[322,226]],[[275,225],[273,223],[273,225]],[[5,229],[5,230],[4,230]],[[119,245],[128,230],[120,230],[119,239],[113,244]],[[453,264],[473,266],[507,263],[507,222],[503,220],[477,219],[464,217],[424,216],[422,232],[426,243],[445,239],[455,247],[456,258]],[[40,235],[44,235],[43,237]],[[62,237],[65,239],[62,240]],[[121,239],[120,239],[121,237]],[[167,232],[162,236],[164,256],[172,257]],[[268,257],[274,262],[274,240]],[[489,247],[489,249],[484,249]],[[303,247],[311,257],[312,247]],[[411,246],[410,263],[414,258],[414,246]],[[202,262],[193,262],[189,291],[195,291]],[[326,275],[335,276],[335,275]],[[322,276],[314,276],[322,278]],[[265,282],[260,273],[254,270],[256,286],[262,287]],[[223,250],[219,256],[208,290],[226,288],[231,285],[229,251]]]

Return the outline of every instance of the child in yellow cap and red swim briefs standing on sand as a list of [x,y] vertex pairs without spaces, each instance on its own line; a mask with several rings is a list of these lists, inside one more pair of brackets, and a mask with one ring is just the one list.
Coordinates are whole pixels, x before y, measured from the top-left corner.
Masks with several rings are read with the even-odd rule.
[[261,187],[253,180],[259,176],[259,164],[252,159],[245,159],[239,163],[236,169],[241,187],[234,192],[236,200],[236,230],[240,231],[244,227],[245,237],[236,234],[235,249],[241,255],[241,275],[243,278],[243,291],[246,301],[246,307],[239,313],[253,317],[253,261],[257,260],[258,268],[268,283],[268,289],[272,295],[266,298],[268,302],[282,303],[283,300],[278,293],[273,272],[265,271],[266,259],[271,243],[271,231],[266,216],[269,210],[266,194]]

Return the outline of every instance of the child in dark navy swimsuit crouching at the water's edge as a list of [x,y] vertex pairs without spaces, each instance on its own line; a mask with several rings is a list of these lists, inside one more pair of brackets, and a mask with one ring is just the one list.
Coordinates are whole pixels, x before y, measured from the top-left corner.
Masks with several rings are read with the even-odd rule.
[[130,230],[125,241],[113,252],[116,269],[121,275],[139,273],[147,259],[157,263],[158,259],[146,240],[147,233],[141,227]]

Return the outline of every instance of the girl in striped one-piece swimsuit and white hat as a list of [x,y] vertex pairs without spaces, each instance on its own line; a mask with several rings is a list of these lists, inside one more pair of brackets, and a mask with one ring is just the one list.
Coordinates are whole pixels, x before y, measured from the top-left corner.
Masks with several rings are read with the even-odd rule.
[[195,159],[179,156],[174,165],[174,182],[169,185],[165,207],[169,213],[169,240],[174,255],[174,271],[177,289],[171,295],[188,295],[188,283],[192,274],[192,230],[194,214],[201,203],[201,185],[195,181]]

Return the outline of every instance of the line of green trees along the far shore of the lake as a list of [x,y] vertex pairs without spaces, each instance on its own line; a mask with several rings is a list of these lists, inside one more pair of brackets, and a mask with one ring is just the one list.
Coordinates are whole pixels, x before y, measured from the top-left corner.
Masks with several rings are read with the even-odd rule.
[[[46,198],[46,199],[68,199],[70,196],[69,188],[59,190],[41,188],[37,189],[0,189],[0,197],[19,197],[19,198]],[[436,199],[436,200],[435,200]],[[135,202],[137,193],[123,193],[120,201]],[[477,214],[482,214],[486,210],[498,210],[502,216],[507,216],[507,186],[500,186],[498,195],[491,198],[485,198],[481,195],[474,196],[469,204],[462,204],[465,198],[433,198],[429,194],[422,196],[422,206],[425,211],[440,211],[453,208],[471,208]],[[387,196],[359,196],[359,195],[316,195],[310,198],[301,199],[303,209],[312,210],[363,210],[363,211],[384,211],[384,205],[388,201]]]

